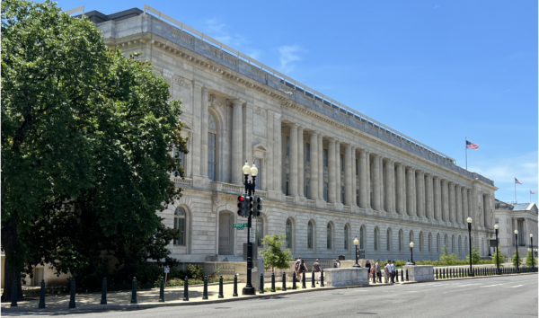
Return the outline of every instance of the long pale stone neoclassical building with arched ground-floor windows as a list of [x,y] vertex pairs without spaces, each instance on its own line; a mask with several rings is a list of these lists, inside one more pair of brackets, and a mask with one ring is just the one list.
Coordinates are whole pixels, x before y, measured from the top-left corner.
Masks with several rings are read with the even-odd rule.
[[[488,254],[494,182],[323,93],[148,6],[86,13],[110,49],[142,51],[183,102],[183,197],[160,213],[182,230],[173,256],[185,262],[241,255],[234,223],[242,166],[255,163],[264,212],[257,238],[287,234],[294,256],[437,259],[444,244],[464,258],[466,218]],[[172,177],[173,178],[173,177]]]

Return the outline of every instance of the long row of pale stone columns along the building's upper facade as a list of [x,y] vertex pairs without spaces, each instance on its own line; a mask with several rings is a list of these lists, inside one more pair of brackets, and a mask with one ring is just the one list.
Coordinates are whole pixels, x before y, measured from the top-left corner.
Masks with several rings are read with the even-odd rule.
[[[323,151],[327,149],[327,201],[330,203],[418,216],[453,225],[465,225],[468,216],[477,222],[474,225],[490,223],[488,217],[474,217],[473,189],[455,181],[334,137],[305,131],[295,123],[289,125],[289,137],[289,196],[307,196],[304,181],[305,173],[309,172],[308,199],[324,200]],[[310,143],[309,171],[305,170],[305,140]],[[324,140],[327,141],[326,148]],[[483,204],[485,211],[489,210],[490,199],[477,203],[480,207]]]

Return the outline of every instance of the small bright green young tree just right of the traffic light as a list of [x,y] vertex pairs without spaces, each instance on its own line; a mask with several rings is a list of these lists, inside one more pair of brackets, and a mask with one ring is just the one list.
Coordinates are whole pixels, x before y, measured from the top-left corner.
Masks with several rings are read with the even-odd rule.
[[287,235],[285,234],[266,235],[262,239],[265,249],[259,254],[264,258],[264,269],[274,271],[274,269],[289,268],[288,261],[294,261],[294,259],[289,249],[281,249],[286,240]]

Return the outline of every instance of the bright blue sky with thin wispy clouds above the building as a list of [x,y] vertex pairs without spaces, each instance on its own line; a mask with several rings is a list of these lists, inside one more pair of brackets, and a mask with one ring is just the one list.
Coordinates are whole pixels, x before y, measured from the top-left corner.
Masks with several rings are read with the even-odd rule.
[[[155,9],[495,181],[538,190],[536,1],[167,1]],[[71,1],[116,13],[144,2]],[[537,195],[532,196],[537,201]]]

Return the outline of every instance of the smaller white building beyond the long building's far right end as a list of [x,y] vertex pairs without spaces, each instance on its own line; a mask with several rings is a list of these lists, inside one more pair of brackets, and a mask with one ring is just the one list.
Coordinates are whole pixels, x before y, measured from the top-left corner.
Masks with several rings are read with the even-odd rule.
[[[533,234],[534,248],[537,247],[537,205],[535,203],[509,204],[496,199],[494,217],[499,225],[498,238],[501,252],[508,257],[515,254],[516,246],[521,257],[526,257],[531,247],[530,234]],[[518,242],[515,237],[518,231]]]

